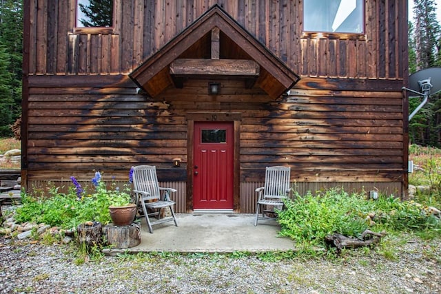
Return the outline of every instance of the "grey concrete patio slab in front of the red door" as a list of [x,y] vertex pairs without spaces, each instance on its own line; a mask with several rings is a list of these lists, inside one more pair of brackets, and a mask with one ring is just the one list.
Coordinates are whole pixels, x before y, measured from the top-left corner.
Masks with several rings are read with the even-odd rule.
[[145,219],[141,220],[141,244],[129,249],[111,249],[105,253],[120,252],[207,252],[234,251],[288,251],[294,241],[278,237],[280,225],[274,220],[259,220],[254,226],[254,214],[238,213],[178,213],[174,222],[153,227],[149,233]]

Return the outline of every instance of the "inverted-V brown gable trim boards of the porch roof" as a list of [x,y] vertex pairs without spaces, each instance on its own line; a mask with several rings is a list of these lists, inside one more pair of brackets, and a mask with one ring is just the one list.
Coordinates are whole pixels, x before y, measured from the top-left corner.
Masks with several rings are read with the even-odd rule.
[[280,61],[217,4],[137,67],[130,74],[130,78],[150,96],[161,93],[172,84],[168,72],[170,63],[178,59],[178,56],[213,28],[219,28],[263,68],[264,74],[260,76],[258,85],[272,98],[277,98],[300,80],[283,61]]

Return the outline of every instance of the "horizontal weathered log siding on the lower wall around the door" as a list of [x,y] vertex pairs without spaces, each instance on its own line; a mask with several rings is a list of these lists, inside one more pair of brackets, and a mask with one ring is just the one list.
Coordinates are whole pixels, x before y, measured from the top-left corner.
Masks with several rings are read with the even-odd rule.
[[[387,81],[371,81],[369,87],[379,90],[369,92],[307,89],[305,83],[324,83],[314,79],[273,101],[262,90],[246,90],[244,81],[221,81],[221,94],[209,96],[207,81],[189,80],[183,89],[171,88],[153,99],[128,85],[63,87],[66,78],[53,77],[57,87],[39,87],[39,79],[30,78],[27,187],[70,176],[88,180],[93,170],[125,180],[130,166],[150,164],[158,167],[161,181],[184,189],[187,114],[235,112],[241,115],[242,211],[254,202],[247,200],[244,185],[261,182],[270,165],[290,166],[292,182],[311,190],[353,182],[358,188],[378,185],[401,192],[402,94],[382,90],[395,87]],[[125,85],[115,80],[109,85]],[[350,83],[334,82],[338,86],[329,87],[347,89]],[[172,167],[175,157],[182,159],[178,169]]]

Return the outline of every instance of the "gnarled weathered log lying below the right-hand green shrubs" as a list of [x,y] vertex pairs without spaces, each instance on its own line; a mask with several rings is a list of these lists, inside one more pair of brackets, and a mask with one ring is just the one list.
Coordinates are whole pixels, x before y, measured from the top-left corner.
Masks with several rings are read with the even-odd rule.
[[335,246],[337,248],[337,253],[339,254],[343,248],[358,248],[378,244],[384,235],[386,235],[385,232],[376,233],[370,230],[365,230],[359,239],[349,238],[340,233],[334,233],[332,235],[327,235],[325,241],[327,244]]

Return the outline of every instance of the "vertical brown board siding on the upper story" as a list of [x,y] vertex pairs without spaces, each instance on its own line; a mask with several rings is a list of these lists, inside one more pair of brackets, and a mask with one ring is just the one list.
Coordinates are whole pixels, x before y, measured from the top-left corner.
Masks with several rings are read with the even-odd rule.
[[74,0],[27,1],[29,74],[128,74],[217,3],[302,76],[407,76],[406,1],[365,1],[362,35],[303,34],[300,0],[114,0],[111,33],[76,32]]

